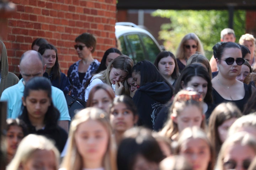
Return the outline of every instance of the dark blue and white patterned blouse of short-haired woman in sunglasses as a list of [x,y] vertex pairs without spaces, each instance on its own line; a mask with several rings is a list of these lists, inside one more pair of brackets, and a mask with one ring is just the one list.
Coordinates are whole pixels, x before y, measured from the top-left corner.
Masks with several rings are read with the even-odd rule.
[[[98,62],[98,60],[94,60],[94,62],[92,62],[90,64],[90,66],[88,67],[85,75],[84,75],[84,79],[82,80],[82,83],[79,80],[79,74],[78,74],[78,65],[79,62],[81,60],[75,62],[74,64],[72,64],[69,67],[68,70],[68,79],[70,81],[70,95],[71,96],[78,96],[79,93],[84,89],[85,83],[88,79],[90,79],[92,77],[92,74],[94,74],[96,72],[96,70],[98,69],[98,67],[100,66],[100,62]],[[78,98],[83,99],[84,98],[84,93],[81,94]]]

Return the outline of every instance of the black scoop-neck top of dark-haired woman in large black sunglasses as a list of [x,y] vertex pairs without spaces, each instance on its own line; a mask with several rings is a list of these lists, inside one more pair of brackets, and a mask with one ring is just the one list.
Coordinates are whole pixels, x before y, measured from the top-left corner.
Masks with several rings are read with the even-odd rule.
[[248,101],[248,99],[251,97],[252,90],[251,85],[247,85],[244,83],[244,89],[245,89],[245,95],[244,98],[241,100],[226,100],[220,94],[213,88],[212,96],[213,96],[213,103],[217,106],[219,103],[223,102],[233,102],[240,110],[243,112],[244,105]]

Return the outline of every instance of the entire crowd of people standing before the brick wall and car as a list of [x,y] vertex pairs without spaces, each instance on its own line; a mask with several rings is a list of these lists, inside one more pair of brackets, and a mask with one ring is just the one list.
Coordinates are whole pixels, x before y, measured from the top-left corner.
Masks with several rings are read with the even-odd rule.
[[[94,59],[96,38],[75,39],[79,60],[61,72],[42,38],[8,72],[0,41],[0,101],[7,102],[7,170],[256,169],[255,38],[225,28],[210,61],[194,33],[176,56],[134,63],[117,48]],[[70,114],[66,95],[86,102]],[[70,115],[72,115],[70,117]]]

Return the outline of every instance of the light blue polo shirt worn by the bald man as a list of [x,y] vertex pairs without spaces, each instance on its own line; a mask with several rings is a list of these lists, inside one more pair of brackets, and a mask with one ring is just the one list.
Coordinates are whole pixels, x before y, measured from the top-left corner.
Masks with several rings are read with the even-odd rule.
[[[7,118],[15,119],[22,114],[22,96],[25,88],[22,81],[23,79],[2,92],[0,101],[7,101]],[[59,120],[70,120],[65,96],[60,89],[54,86],[52,86],[52,101],[60,112]]]

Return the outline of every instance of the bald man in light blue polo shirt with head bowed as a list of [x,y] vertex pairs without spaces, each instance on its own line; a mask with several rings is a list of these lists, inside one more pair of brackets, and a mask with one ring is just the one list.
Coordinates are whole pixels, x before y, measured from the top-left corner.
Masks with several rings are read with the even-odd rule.
[[[20,60],[20,74],[22,79],[18,84],[8,87],[2,92],[0,101],[7,101],[7,118],[18,118],[22,114],[22,96],[26,82],[31,78],[43,76],[46,65],[43,65],[43,59],[39,52],[29,50],[23,53]],[[57,87],[52,86],[52,101],[54,106],[60,112],[59,125],[68,131],[70,116],[68,106],[63,92]]]

